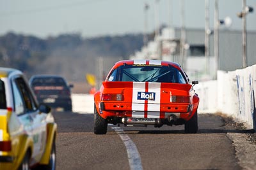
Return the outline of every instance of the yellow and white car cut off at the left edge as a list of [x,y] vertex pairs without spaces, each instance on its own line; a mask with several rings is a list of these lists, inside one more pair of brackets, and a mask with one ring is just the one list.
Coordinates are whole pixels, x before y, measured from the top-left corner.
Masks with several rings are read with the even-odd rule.
[[22,72],[0,67],[0,169],[56,169],[57,124]]

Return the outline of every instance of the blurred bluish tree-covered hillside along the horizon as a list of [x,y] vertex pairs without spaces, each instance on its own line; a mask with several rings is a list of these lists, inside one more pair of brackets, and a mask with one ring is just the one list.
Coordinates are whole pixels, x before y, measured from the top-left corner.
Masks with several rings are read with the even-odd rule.
[[[33,74],[60,74],[76,81],[95,73],[97,57],[128,59],[143,46],[143,34],[83,38],[61,34],[46,39],[8,32],[0,36],[0,66],[13,67],[28,77]],[[109,66],[106,66],[109,67]]]

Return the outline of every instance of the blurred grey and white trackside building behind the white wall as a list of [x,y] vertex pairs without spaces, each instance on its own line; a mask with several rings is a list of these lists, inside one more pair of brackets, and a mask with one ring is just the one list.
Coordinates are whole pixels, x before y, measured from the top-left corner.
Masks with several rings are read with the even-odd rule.
[[[189,77],[212,79],[216,73],[214,59],[214,32],[209,35],[209,60],[205,57],[204,29],[186,29],[184,59],[180,57],[180,29],[164,28],[159,37],[148,42],[130,59],[160,59],[178,62]],[[242,31],[219,30],[218,69],[233,71],[243,67]],[[207,64],[209,62],[209,64]],[[247,66],[256,64],[256,31],[247,31]],[[208,67],[207,67],[208,66]]]

